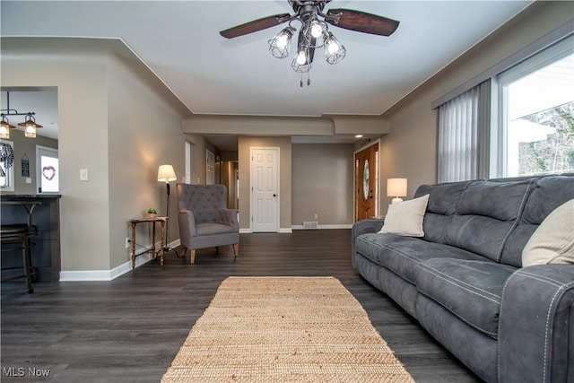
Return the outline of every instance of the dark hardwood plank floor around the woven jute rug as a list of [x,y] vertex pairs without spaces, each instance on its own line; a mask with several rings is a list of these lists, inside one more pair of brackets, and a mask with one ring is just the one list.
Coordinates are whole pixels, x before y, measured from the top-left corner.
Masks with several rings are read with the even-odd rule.
[[195,265],[171,251],[163,266],[152,261],[111,282],[36,283],[30,295],[22,281],[2,283],[0,380],[159,382],[226,277],[332,275],[417,382],[479,382],[352,269],[350,243],[350,230],[241,234],[235,260],[230,247],[198,250]]

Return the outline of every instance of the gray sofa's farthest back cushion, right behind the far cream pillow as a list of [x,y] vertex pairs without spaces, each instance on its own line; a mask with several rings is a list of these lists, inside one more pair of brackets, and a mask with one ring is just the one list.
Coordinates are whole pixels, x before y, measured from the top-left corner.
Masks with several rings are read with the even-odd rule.
[[460,196],[473,181],[452,182],[439,185],[422,185],[414,197],[429,195],[427,211],[422,221],[424,237],[422,239],[444,243],[445,231],[452,217],[457,213]]

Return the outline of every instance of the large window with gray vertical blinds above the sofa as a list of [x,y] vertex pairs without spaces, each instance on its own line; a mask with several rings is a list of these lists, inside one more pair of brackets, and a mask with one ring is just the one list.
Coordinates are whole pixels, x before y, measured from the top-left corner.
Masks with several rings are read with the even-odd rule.
[[574,171],[572,89],[561,26],[433,101],[438,182]]

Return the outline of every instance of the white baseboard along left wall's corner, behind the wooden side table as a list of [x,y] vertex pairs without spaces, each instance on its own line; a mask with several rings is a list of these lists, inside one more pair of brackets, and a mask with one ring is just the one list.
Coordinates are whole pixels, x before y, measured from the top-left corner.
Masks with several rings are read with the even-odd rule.
[[[181,244],[179,239],[170,242],[170,248],[177,248]],[[160,248],[161,244],[155,245]],[[144,251],[151,249],[151,246],[141,248],[137,254],[142,254]],[[152,254],[143,254],[135,258],[135,268],[150,262],[153,259]],[[111,270],[83,270],[83,271],[61,271],[60,282],[102,282],[113,281],[117,277],[132,271],[132,261],[128,260],[126,263],[118,265]]]

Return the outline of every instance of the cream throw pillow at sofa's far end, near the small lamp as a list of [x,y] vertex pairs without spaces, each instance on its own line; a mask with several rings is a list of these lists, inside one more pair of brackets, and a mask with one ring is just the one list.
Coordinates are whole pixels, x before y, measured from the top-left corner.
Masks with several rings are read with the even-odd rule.
[[429,195],[388,205],[387,216],[380,233],[392,233],[409,237],[424,237],[422,219],[427,210]]

